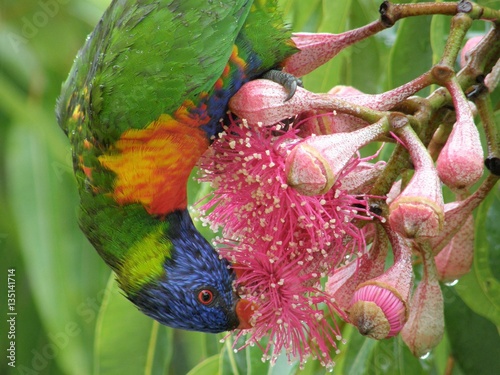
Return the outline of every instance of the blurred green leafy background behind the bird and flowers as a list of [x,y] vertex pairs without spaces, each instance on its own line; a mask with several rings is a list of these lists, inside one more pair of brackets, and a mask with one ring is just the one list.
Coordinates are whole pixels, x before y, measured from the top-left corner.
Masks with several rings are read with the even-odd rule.
[[[70,148],[54,117],[55,99],[74,56],[109,0],[1,0],[0,13],[0,374],[321,374],[257,347],[239,353],[223,335],[161,327],[117,292],[110,271],[76,224]],[[377,18],[378,1],[281,0],[296,31],[342,32]],[[482,1],[500,8],[499,1]],[[440,56],[449,18],[404,20],[342,52],[306,77],[381,92],[416,77]],[[470,34],[488,25],[475,22]],[[498,90],[497,90],[498,91]],[[498,97],[498,93],[496,94]],[[498,106],[498,103],[496,103]],[[497,116],[498,118],[498,116]],[[191,196],[197,195],[191,187]],[[447,334],[427,358],[401,339],[376,342],[343,329],[335,374],[452,374],[500,371],[500,192],[476,213],[473,271],[443,286]],[[15,269],[16,367],[7,358],[7,277]],[[7,353],[7,354],[6,354]]]

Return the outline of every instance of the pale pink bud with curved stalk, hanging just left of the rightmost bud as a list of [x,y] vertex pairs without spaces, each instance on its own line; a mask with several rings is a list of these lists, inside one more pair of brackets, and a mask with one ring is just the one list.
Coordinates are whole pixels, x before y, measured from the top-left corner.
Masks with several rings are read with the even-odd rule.
[[410,127],[400,129],[415,167],[403,192],[389,205],[389,223],[407,238],[434,237],[443,228],[444,203],[433,161]]

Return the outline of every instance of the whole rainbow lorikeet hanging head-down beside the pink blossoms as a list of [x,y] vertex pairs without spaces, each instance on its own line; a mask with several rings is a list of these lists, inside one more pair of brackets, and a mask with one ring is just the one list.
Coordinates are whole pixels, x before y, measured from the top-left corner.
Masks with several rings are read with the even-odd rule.
[[229,264],[195,229],[188,176],[229,98],[296,52],[270,0],[114,0],[57,103],[79,222],[127,298],[168,326],[245,327]]

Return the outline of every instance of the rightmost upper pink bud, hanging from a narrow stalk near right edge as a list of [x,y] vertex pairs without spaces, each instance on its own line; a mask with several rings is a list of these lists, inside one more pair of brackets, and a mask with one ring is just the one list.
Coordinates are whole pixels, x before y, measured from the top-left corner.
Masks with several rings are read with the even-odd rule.
[[452,190],[475,184],[483,174],[483,149],[473,114],[456,78],[447,84],[457,121],[437,159],[439,178]]

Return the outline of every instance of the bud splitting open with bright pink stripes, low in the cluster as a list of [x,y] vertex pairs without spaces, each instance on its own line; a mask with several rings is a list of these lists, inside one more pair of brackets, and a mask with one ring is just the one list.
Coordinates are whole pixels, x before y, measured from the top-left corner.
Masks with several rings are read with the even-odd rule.
[[362,335],[373,339],[395,336],[408,317],[413,285],[411,247],[386,227],[394,251],[394,264],[382,275],[360,284],[349,308],[349,320]]

